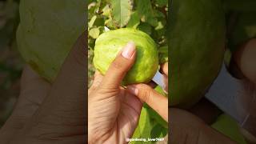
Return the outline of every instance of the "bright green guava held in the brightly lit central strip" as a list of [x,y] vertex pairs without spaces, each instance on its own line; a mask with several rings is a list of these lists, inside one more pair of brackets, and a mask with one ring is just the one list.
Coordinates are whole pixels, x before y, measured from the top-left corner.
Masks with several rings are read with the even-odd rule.
[[140,30],[122,28],[101,34],[94,47],[95,68],[106,74],[110,63],[128,42],[134,42],[136,45],[136,59],[122,84],[150,82],[158,70],[158,48],[154,40]]

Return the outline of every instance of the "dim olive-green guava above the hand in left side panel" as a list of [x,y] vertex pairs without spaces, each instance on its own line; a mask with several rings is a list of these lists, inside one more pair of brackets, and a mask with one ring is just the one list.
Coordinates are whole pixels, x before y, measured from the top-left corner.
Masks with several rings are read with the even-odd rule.
[[53,82],[71,47],[85,30],[86,1],[21,1],[18,50],[30,66]]

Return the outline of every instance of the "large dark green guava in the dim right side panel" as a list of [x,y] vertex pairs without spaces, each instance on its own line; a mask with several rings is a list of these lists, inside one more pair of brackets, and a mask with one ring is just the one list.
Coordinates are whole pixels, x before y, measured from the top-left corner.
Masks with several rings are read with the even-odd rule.
[[176,0],[169,23],[169,105],[187,108],[204,96],[221,68],[225,14],[220,0]]

